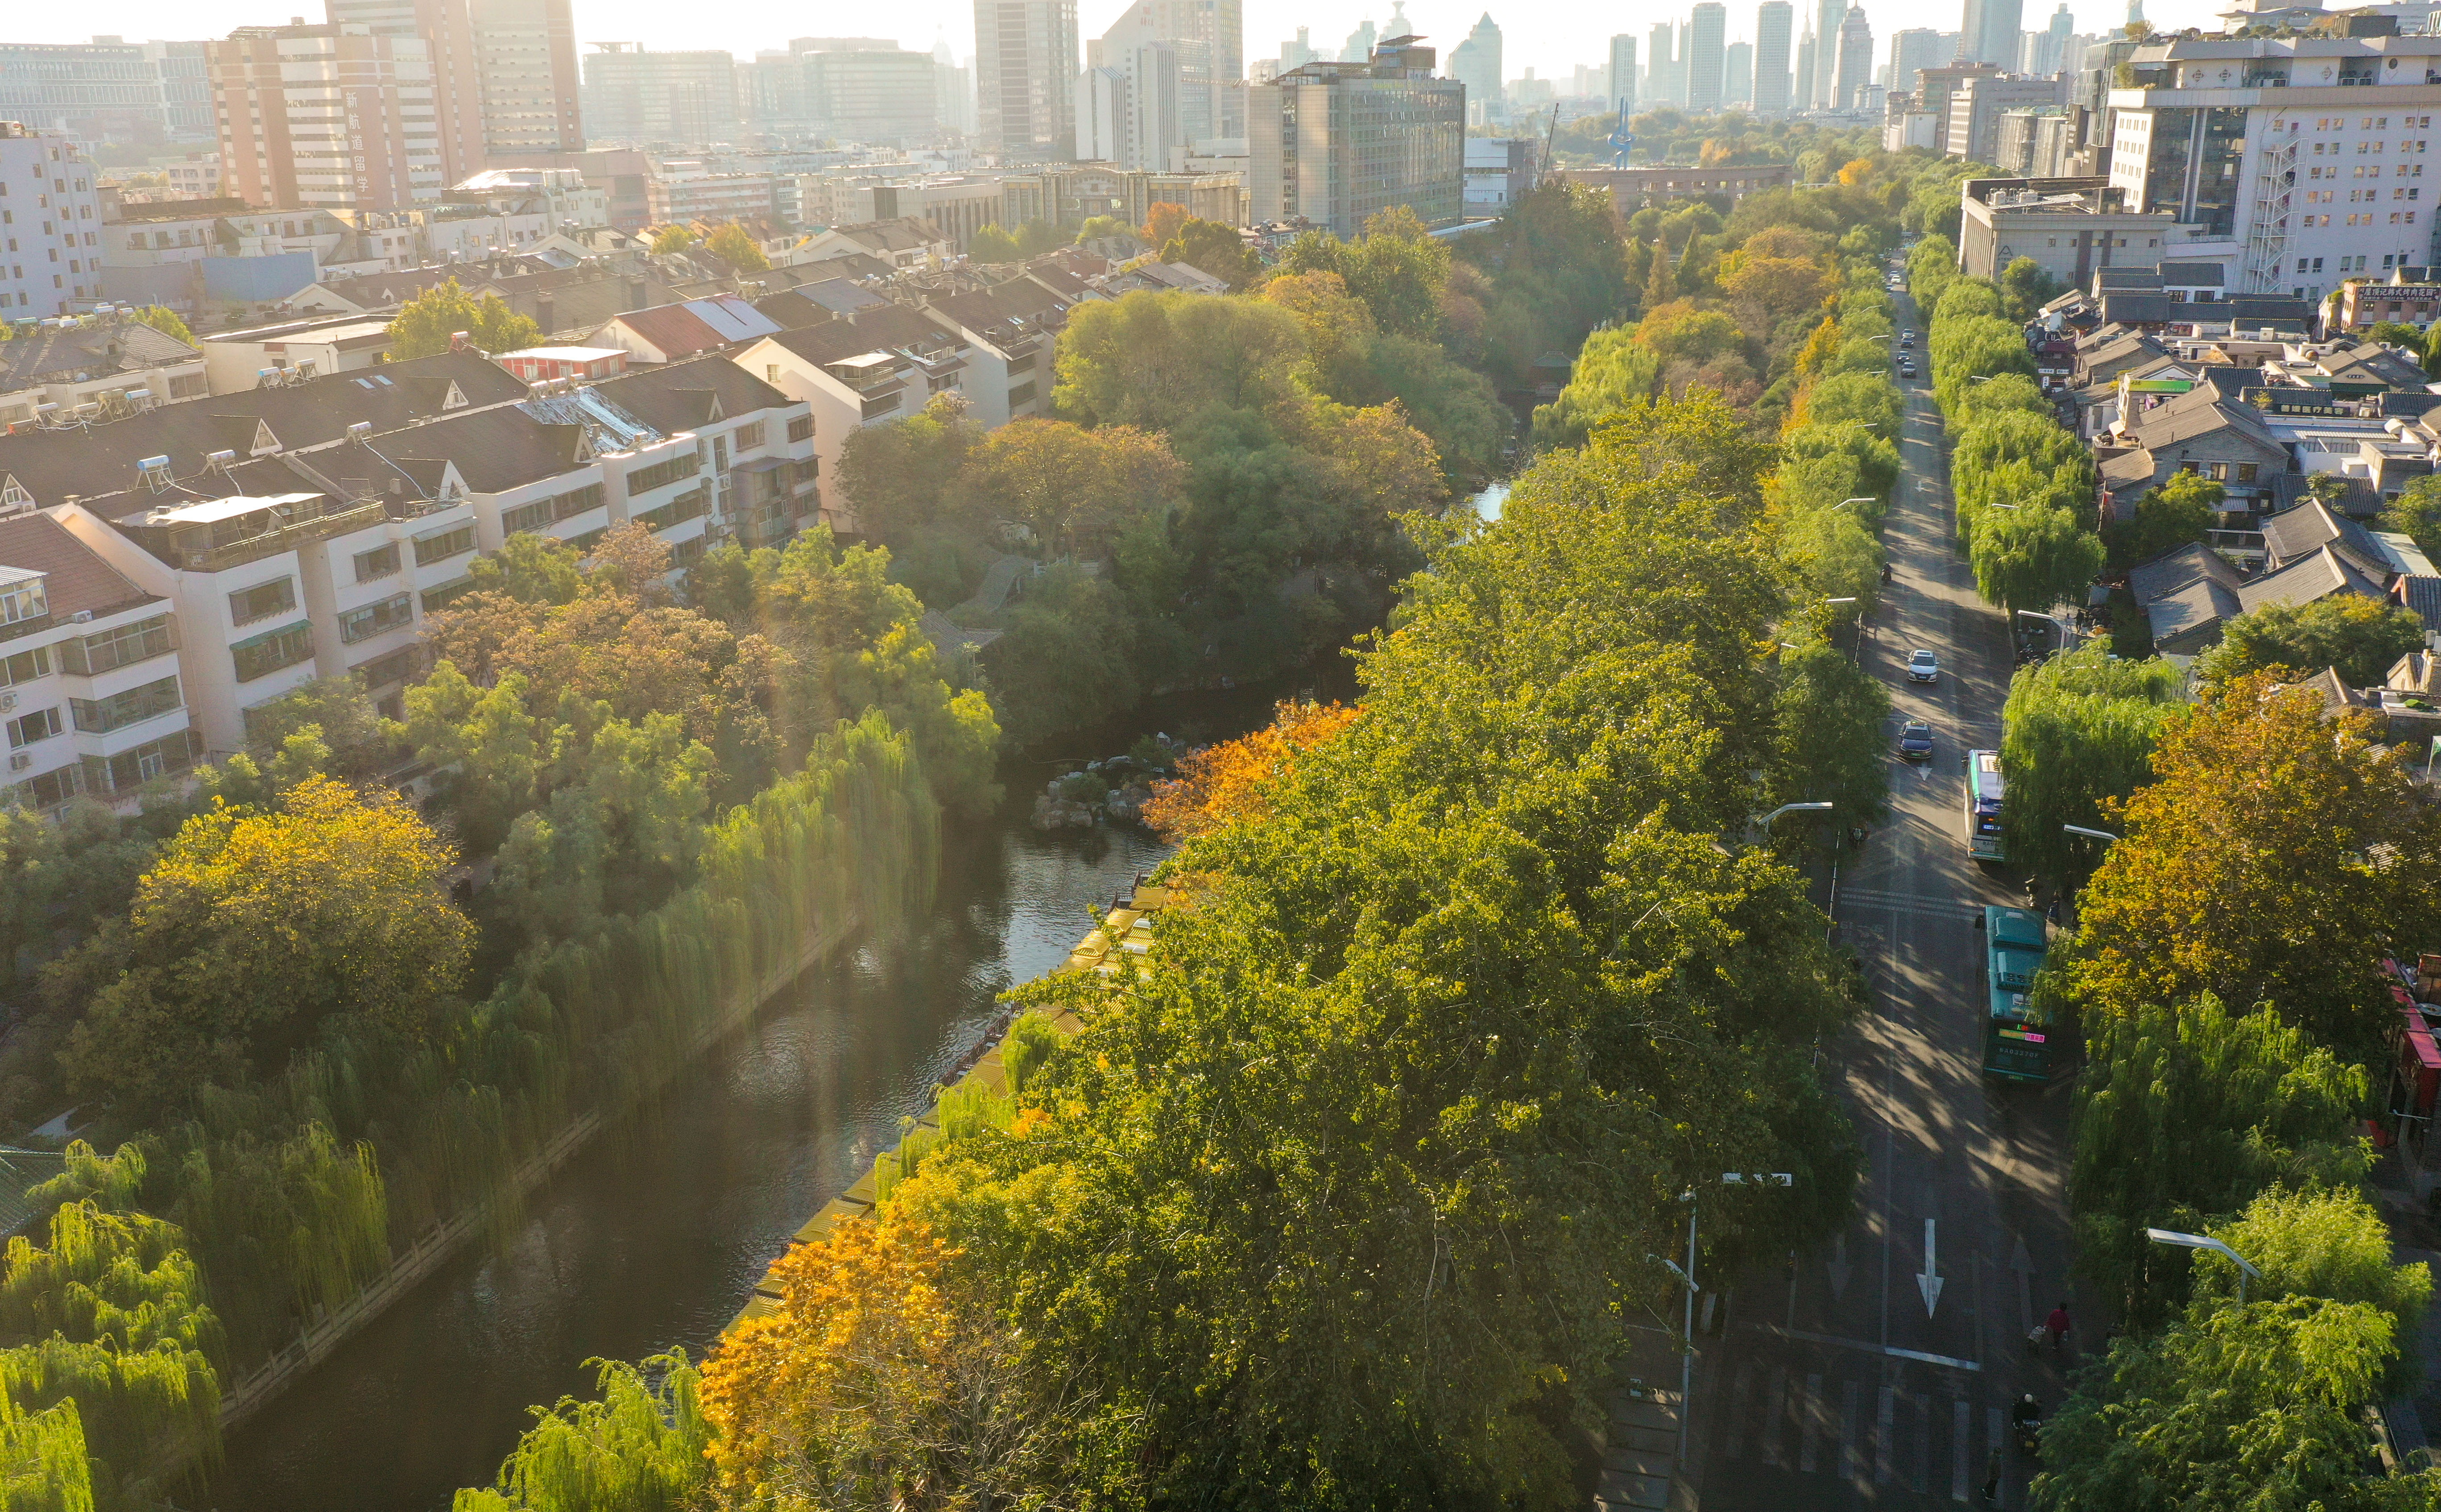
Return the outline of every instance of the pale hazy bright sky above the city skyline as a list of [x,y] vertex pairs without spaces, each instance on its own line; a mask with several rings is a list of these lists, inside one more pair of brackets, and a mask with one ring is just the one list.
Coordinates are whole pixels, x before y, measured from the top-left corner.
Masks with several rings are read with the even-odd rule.
[[[1570,76],[1577,64],[1601,64],[1609,54],[1611,32],[1631,32],[1643,39],[1645,27],[1662,17],[1687,12],[1689,0],[1662,5],[1640,0],[1618,10],[1587,5],[1555,5],[1550,0],[1531,5],[1506,5],[1501,0],[1413,0],[1406,20],[1440,49],[1450,49],[1487,5],[1491,20],[1501,24],[1506,73],[1521,76],[1526,68],[1545,78]],[[2028,29],[2041,29],[2043,17],[2058,0],[2026,0]],[[0,24],[5,42],[83,42],[95,32],[115,32],[129,42],[154,37],[222,37],[232,27],[278,24],[295,10],[308,7],[308,20],[322,20],[317,0],[98,0],[90,10],[76,5],[10,5],[10,17]],[[1128,0],[1081,0],[1079,29],[1098,37]],[[73,10],[73,15],[71,15]],[[1804,10],[1804,0],[1799,0]],[[1960,0],[1867,0],[1875,37],[1904,27],[1958,29]],[[2219,5],[2204,0],[2148,0],[2146,20],[2155,27],[2214,27]],[[1601,15],[1604,20],[1592,20]],[[2124,0],[2070,0],[2077,32],[2102,32],[2126,20]],[[1296,37],[1296,27],[1311,29],[1318,51],[1338,54],[1347,34],[1372,17],[1374,24],[1389,20],[1386,0],[1247,0],[1245,2],[1245,56],[1269,59],[1279,54],[1282,39]],[[1753,39],[1753,2],[1731,2],[1731,39]],[[781,46],[788,37],[898,37],[906,46],[928,49],[937,37],[967,56],[974,51],[972,0],[898,0],[881,10],[820,2],[806,7],[779,5],[723,5],[720,0],[674,5],[671,0],[576,0],[576,34],[586,42],[644,42],[647,46],[725,46],[735,54],[752,54],[757,46]]]

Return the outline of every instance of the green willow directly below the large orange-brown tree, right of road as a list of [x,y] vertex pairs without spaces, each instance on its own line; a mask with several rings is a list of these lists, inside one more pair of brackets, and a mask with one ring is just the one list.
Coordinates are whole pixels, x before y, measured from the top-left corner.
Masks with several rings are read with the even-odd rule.
[[2068,1172],[2077,1268],[2129,1324],[2160,1326],[2192,1268],[2146,1229],[2202,1231],[2282,1182],[2363,1180],[2348,1126],[2363,1099],[2360,1065],[2275,1014],[2207,994],[2092,1019]]

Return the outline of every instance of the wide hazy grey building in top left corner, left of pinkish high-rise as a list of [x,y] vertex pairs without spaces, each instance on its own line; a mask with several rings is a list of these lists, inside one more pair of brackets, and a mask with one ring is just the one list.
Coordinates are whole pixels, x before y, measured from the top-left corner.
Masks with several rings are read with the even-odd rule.
[[212,134],[200,42],[0,42],[0,120],[85,144],[159,147]]

